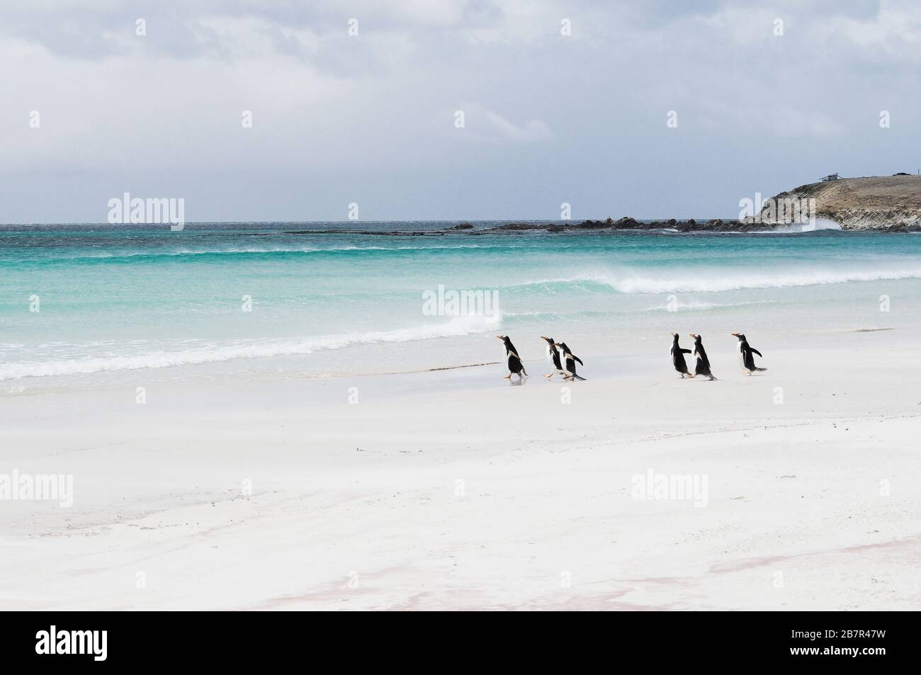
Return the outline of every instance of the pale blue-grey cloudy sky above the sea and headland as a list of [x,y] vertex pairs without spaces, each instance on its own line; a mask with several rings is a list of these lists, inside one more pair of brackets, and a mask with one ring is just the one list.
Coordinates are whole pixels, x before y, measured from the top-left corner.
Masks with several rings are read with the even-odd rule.
[[919,78],[916,0],[4,2],[0,222],[731,217],[917,171]]

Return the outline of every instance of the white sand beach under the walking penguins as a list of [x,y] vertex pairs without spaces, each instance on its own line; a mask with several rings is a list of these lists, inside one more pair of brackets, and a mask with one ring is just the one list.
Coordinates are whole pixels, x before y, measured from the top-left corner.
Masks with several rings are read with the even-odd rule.
[[[664,334],[580,354],[574,384],[529,360],[523,386],[484,366],[5,395],[4,471],[71,473],[74,504],[0,509],[0,605],[918,609],[915,335],[750,337],[768,370],[745,377],[705,334],[716,382],[678,378]],[[705,495],[634,498],[649,471]]]

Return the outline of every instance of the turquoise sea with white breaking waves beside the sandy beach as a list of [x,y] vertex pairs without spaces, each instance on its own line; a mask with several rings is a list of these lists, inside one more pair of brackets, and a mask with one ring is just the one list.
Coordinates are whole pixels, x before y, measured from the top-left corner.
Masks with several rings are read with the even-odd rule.
[[[671,330],[893,327],[921,306],[915,234],[286,234],[453,225],[0,226],[0,390],[458,366],[501,358],[498,332],[525,358],[548,333],[640,354]],[[426,313],[439,285],[498,309]]]

